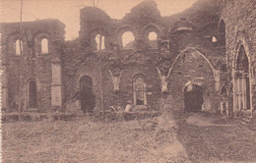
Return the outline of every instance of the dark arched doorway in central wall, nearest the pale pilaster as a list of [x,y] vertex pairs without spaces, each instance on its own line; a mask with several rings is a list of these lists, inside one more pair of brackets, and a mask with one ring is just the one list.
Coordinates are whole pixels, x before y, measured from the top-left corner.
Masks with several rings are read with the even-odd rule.
[[93,79],[84,76],[80,79],[80,101],[81,109],[85,113],[92,112],[96,107],[96,96],[93,92]]

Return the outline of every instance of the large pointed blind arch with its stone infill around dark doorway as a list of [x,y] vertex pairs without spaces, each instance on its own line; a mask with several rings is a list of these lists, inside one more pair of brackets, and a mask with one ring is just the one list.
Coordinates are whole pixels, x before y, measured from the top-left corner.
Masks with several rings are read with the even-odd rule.
[[[196,64],[195,64],[196,63]],[[177,108],[184,108],[184,85],[197,84],[203,88],[202,110],[214,111],[219,106],[218,91],[216,91],[216,71],[210,61],[198,50],[187,48],[173,61],[169,68],[167,81],[170,94],[180,104]]]

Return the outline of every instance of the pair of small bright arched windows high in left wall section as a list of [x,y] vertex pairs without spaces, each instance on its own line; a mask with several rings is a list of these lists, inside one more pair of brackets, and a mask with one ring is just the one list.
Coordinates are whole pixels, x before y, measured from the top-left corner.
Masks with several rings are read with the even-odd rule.
[[[21,39],[17,39],[15,41],[15,54],[21,55],[23,53],[23,41]],[[42,38],[40,40],[40,54],[48,54],[49,53],[49,44],[47,38]]]

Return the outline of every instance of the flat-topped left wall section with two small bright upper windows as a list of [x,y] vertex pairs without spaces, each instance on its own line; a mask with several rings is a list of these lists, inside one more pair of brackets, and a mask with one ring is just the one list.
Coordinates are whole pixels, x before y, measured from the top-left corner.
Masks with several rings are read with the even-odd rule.
[[[8,111],[29,107],[30,81],[36,83],[36,103],[39,112],[51,110],[51,61],[64,41],[64,25],[56,20],[1,24],[3,32],[2,64],[6,67],[8,89]],[[20,32],[21,31],[21,32]],[[16,54],[15,41],[21,38],[23,51]],[[40,53],[40,40],[47,38],[48,53]],[[20,92],[20,93],[19,93]],[[21,101],[19,101],[19,96]]]

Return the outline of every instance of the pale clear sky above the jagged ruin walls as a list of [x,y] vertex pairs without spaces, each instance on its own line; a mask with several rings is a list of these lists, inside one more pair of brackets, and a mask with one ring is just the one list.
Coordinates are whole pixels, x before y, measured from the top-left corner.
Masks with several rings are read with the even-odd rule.
[[[98,3],[97,3],[98,1]],[[122,19],[131,8],[144,0],[95,0],[97,7],[112,19]],[[197,0],[155,0],[161,16],[170,16],[189,8]],[[65,39],[78,37],[80,30],[79,10],[93,6],[93,0],[24,0],[23,21],[58,19],[66,25]],[[0,22],[20,20],[21,0],[0,0]]]

